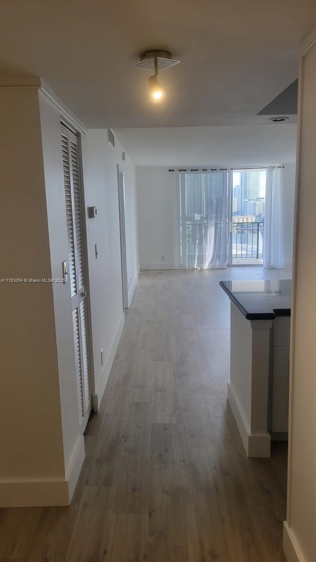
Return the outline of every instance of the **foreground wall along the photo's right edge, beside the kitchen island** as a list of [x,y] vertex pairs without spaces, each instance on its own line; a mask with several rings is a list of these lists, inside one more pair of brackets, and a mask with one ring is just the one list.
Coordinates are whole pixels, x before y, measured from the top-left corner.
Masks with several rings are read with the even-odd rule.
[[[316,30],[314,33],[316,38]],[[303,57],[297,184],[294,297],[291,314],[288,562],[316,560],[316,43]]]

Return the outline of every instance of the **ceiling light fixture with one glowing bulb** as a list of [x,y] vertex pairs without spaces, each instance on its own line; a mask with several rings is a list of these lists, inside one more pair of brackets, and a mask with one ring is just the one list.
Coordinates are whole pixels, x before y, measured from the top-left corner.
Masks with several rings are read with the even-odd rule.
[[154,75],[148,78],[151,101],[162,101],[165,98],[165,90],[159,84],[158,72],[178,65],[180,61],[171,58],[169,51],[145,51],[139,58],[140,62],[134,65],[134,67],[154,71]]

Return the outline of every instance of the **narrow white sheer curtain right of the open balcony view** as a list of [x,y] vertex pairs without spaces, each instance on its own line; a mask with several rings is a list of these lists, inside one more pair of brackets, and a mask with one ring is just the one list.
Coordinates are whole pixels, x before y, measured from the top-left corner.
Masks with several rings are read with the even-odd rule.
[[263,230],[263,266],[284,267],[283,241],[283,167],[268,166]]

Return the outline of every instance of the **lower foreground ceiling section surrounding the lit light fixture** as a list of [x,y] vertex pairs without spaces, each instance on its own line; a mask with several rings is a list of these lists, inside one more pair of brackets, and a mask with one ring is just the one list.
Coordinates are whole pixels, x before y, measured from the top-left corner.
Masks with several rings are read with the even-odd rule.
[[[315,0],[1,0],[0,76],[40,76],[88,128],[265,123],[314,24]],[[182,60],[155,106],[151,48]]]

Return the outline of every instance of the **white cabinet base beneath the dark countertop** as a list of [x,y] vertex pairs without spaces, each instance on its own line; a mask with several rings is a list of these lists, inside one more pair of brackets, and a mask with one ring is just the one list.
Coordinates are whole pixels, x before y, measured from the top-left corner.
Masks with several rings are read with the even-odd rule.
[[231,302],[228,402],[249,457],[287,438],[290,318],[247,320]]

